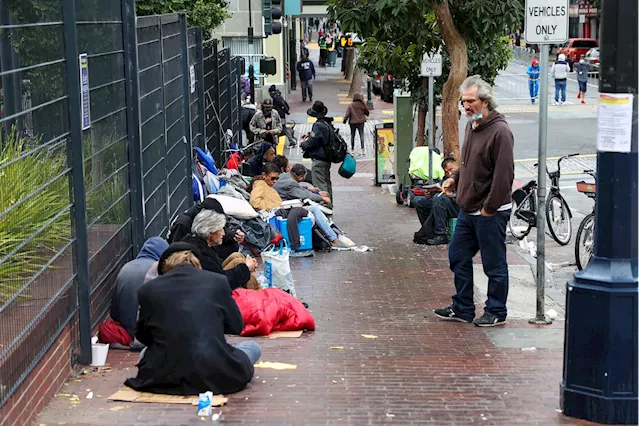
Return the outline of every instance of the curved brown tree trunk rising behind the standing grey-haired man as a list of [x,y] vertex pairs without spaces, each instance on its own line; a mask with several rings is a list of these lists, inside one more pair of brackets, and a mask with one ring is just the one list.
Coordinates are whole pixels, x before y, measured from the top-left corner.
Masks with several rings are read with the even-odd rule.
[[460,100],[460,85],[467,78],[469,67],[467,44],[453,23],[449,0],[437,1],[434,9],[442,39],[451,58],[451,72],[442,89],[442,144],[444,151],[442,155],[458,160],[460,156],[458,101]]

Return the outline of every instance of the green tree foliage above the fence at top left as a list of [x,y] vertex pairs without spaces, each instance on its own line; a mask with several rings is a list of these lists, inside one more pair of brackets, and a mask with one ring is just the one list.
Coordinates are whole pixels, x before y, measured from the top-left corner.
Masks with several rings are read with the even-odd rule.
[[222,24],[231,15],[227,0],[136,0],[139,16],[186,12],[190,27],[201,27],[205,33]]

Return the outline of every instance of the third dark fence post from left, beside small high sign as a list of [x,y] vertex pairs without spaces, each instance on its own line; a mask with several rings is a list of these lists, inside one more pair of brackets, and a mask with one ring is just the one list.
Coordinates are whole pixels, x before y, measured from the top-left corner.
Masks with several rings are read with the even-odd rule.
[[[184,107],[184,149],[185,149],[185,186],[187,186],[187,194],[192,193],[191,182],[191,158],[193,157],[193,147],[191,139],[191,103],[189,102],[191,97],[191,73],[189,71],[189,47],[187,40],[187,15],[183,12],[178,14],[180,19],[180,50],[182,53],[182,89],[184,91],[182,95],[182,103]],[[187,197],[187,206],[193,205],[193,196]],[[171,212],[169,212],[171,213]],[[169,220],[172,217],[169,215]]]

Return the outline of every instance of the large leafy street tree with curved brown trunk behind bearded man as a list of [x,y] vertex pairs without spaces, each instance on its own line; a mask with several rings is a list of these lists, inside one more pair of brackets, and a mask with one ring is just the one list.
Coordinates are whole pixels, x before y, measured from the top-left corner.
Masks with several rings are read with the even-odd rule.
[[418,145],[424,144],[427,106],[420,62],[424,53],[441,49],[443,75],[435,91],[443,110],[443,153],[457,158],[458,88],[473,74],[493,84],[506,68],[510,47],[505,35],[521,22],[524,0],[331,0],[329,11],[344,31],[365,40],[359,66],[405,80],[418,106]]

